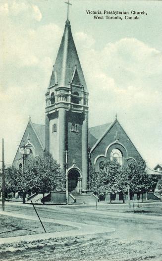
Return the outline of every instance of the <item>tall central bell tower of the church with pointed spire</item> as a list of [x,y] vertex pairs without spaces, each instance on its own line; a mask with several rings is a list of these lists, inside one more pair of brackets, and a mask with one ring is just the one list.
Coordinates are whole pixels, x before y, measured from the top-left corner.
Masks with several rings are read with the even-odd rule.
[[68,151],[69,176],[77,172],[80,191],[87,190],[88,179],[88,95],[67,19],[46,93],[45,136],[46,149],[64,171]]

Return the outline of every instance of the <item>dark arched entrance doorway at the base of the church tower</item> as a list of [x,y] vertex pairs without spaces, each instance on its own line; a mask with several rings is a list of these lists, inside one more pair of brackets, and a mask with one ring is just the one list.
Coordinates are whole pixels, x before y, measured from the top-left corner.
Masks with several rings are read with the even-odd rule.
[[80,173],[76,169],[71,169],[68,173],[68,192],[77,192],[78,188],[78,178],[80,177]]

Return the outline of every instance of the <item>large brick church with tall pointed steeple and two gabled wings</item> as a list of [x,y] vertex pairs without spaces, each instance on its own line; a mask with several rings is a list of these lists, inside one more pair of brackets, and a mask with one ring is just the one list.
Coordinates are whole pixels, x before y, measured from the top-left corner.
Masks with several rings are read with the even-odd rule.
[[34,157],[46,149],[64,173],[67,171],[68,192],[84,195],[89,191],[90,165],[99,171],[105,159],[116,158],[123,165],[142,158],[117,115],[111,123],[88,128],[89,92],[68,19],[45,99],[45,125],[29,118],[13,160],[16,168],[23,165],[23,146]]

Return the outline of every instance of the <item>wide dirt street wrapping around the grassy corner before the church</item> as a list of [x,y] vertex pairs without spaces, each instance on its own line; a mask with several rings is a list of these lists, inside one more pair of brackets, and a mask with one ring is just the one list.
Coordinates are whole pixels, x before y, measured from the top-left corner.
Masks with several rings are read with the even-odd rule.
[[[154,204],[155,205],[155,204]],[[162,209],[162,205],[150,206],[150,213],[155,208]],[[41,219],[48,218],[52,222],[59,220],[112,228],[114,232],[101,233],[95,231],[87,235],[77,235],[51,238],[35,242],[21,242],[9,245],[1,250],[1,261],[162,261],[162,216],[139,213],[128,213],[127,208],[114,206],[36,206]],[[31,205],[8,204],[5,207],[7,214],[30,215],[36,218],[36,213]],[[114,211],[115,210],[115,211]],[[149,216],[148,216],[149,215]],[[27,217],[26,217],[27,218]],[[58,222],[59,222],[58,221]],[[41,225],[41,224],[40,224]],[[87,226],[87,230],[88,227]],[[71,228],[69,228],[71,230]],[[76,229],[74,231],[77,231]],[[37,233],[37,231],[35,232]],[[43,230],[42,230],[43,233]],[[78,255],[79,253],[79,255]]]

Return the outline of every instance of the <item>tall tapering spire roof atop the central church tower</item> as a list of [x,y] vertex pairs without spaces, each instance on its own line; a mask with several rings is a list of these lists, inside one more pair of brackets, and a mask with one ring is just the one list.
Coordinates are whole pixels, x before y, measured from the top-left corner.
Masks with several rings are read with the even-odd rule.
[[58,87],[67,87],[69,82],[72,80],[74,71],[76,70],[79,81],[78,85],[83,85],[84,90],[87,91],[83,71],[71,33],[70,22],[67,20],[61,44],[56,56],[49,87],[54,86],[55,84],[58,84]]

